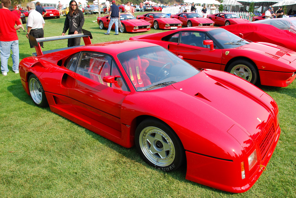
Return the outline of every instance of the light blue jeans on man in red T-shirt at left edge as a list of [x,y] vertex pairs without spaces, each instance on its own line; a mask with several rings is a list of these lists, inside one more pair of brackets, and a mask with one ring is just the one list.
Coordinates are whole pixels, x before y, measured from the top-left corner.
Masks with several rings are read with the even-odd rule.
[[20,53],[18,48],[18,40],[15,41],[0,41],[0,60],[1,72],[8,72],[8,58],[10,56],[10,49],[12,50],[12,70],[18,71],[20,61]]

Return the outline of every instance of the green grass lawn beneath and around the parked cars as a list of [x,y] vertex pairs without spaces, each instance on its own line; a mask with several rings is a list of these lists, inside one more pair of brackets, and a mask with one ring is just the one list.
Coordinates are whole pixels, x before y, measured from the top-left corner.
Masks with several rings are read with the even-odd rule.
[[[112,30],[107,36],[94,20],[94,15],[85,16],[83,26],[92,33],[92,43],[164,31],[115,36]],[[46,19],[44,36],[62,35],[64,21]],[[35,49],[30,49],[25,32],[17,34],[21,60]],[[45,42],[43,50],[63,47],[67,40]],[[285,88],[260,86],[279,105],[281,137],[267,171],[242,194],[188,181],[185,166],[172,173],[156,170],[135,148],[123,148],[49,108],[35,106],[20,75],[12,72],[11,57],[0,85],[0,197],[296,197],[296,82]]]

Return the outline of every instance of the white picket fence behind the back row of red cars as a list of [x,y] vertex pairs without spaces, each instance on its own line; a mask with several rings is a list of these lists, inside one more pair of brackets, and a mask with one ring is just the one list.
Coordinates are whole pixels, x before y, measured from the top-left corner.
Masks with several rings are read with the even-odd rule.
[[[180,10],[179,6],[171,6],[171,7],[164,7],[162,12],[165,14],[176,15],[179,13],[179,10]],[[202,7],[197,6],[196,12],[202,16]],[[215,12],[219,13],[219,10],[216,9]],[[250,15],[252,14],[250,12],[227,12],[227,13],[236,14],[238,17],[240,17],[242,19],[247,19],[247,20],[250,20]],[[205,15],[205,17],[207,17],[207,15],[210,15],[210,9],[207,9],[207,14]]]

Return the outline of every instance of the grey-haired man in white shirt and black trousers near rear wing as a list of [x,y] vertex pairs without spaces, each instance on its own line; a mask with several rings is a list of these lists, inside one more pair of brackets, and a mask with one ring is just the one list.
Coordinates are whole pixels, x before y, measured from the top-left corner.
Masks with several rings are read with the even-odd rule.
[[[27,38],[29,38],[28,34],[34,36],[35,38],[43,38],[44,37],[44,24],[45,21],[42,15],[35,10],[35,4],[33,2],[27,3],[28,9],[28,19],[27,19]],[[40,43],[40,46],[43,47],[43,42]],[[34,46],[30,44],[30,47]]]

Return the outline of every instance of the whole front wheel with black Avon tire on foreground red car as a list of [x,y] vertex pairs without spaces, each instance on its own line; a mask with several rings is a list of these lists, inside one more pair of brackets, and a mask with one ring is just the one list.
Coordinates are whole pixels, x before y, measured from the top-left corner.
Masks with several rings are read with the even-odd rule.
[[173,171],[185,160],[185,150],[180,139],[160,120],[142,121],[136,128],[135,143],[144,161],[154,168]]

